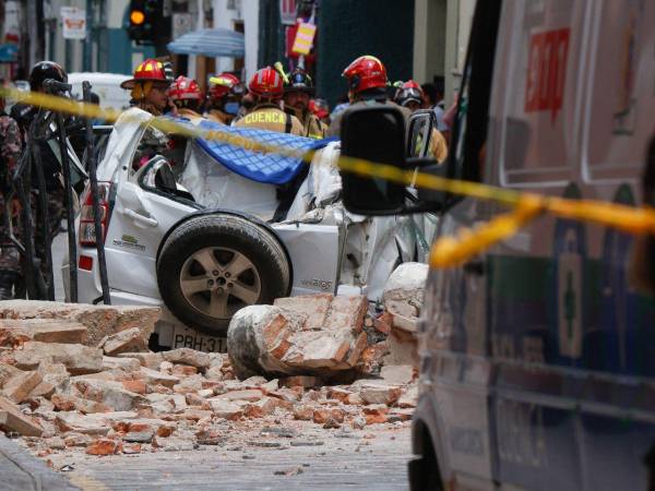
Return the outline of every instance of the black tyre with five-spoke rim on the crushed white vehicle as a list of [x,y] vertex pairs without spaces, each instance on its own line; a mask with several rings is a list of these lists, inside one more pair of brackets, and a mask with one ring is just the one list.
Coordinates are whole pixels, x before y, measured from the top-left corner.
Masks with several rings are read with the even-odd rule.
[[184,324],[225,336],[239,309],[286,297],[290,267],[278,239],[233,215],[184,221],[166,239],[157,261],[162,299]]

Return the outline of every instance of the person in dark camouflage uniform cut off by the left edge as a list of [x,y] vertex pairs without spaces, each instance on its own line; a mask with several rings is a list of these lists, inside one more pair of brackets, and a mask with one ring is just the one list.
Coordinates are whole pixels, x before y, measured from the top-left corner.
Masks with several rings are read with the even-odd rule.
[[[9,239],[9,223],[17,213],[17,203],[12,203],[10,216],[7,212],[5,196],[11,191],[11,179],[21,157],[21,130],[19,123],[4,112],[4,97],[0,97],[0,300],[13,298],[14,286],[21,277],[21,255]],[[16,233],[19,227],[14,227]],[[16,233],[17,235],[17,233]]]

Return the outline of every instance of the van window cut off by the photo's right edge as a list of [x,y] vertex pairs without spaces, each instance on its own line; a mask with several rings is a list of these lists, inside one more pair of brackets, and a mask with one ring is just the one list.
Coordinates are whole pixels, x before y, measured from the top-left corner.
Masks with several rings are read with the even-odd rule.
[[587,180],[636,179],[655,132],[655,2],[597,2],[584,124]]

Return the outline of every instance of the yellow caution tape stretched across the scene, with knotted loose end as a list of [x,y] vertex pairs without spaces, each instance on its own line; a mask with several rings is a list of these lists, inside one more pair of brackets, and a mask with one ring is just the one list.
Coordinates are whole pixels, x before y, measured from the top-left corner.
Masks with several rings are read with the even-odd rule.
[[[85,118],[96,118],[106,121],[116,121],[119,117],[126,118],[123,112],[103,109],[93,104],[80,103],[66,97],[41,93],[26,93],[11,88],[0,88],[0,95],[33,106],[40,106],[48,110],[67,112]],[[221,131],[206,131],[192,128],[162,118],[147,121],[134,118],[134,120],[142,124],[157,128],[165,133],[177,133],[188,137],[221,141],[253,152],[301,158],[307,164],[311,163],[314,155],[314,152],[300,153],[299,151],[264,144]],[[655,211],[651,207],[634,208],[632,206],[602,201],[544,196],[477,182],[446,179],[425,172],[416,172],[415,170],[404,170],[388,164],[372,163],[343,155],[338,158],[338,167],[340,170],[354,172],[362,177],[381,178],[406,185],[414,184],[417,188],[495,201],[514,207],[512,212],[498,216],[474,230],[461,230],[457,237],[442,237],[437,240],[430,252],[430,265],[433,267],[461,265],[499,241],[511,237],[541,213],[551,213],[561,218],[591,221],[633,235],[655,235]]]

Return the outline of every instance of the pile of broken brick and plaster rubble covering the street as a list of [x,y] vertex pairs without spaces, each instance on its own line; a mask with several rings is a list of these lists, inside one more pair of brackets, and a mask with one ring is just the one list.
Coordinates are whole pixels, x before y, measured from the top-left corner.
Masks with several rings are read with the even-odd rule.
[[373,319],[361,297],[278,299],[237,314],[228,355],[150,351],[154,318],[135,308],[129,315],[143,325],[93,306],[62,313],[55,304],[58,315],[43,306],[43,319],[20,320],[24,312],[8,303],[0,302],[0,429],[41,457],[225,445],[253,426],[361,430],[408,421],[416,406],[415,367],[384,357],[396,316],[405,325],[418,310],[396,306],[400,313]]

